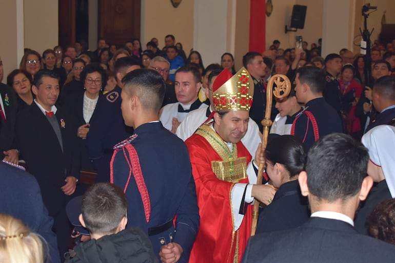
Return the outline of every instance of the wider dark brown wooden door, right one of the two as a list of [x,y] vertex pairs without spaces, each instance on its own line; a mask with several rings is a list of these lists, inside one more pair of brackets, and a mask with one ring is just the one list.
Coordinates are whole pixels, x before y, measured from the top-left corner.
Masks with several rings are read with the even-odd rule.
[[100,0],[98,36],[119,47],[140,39],[141,0]]

